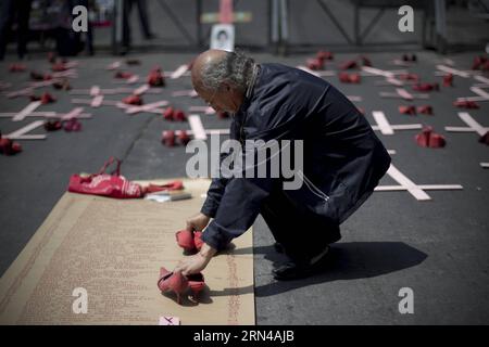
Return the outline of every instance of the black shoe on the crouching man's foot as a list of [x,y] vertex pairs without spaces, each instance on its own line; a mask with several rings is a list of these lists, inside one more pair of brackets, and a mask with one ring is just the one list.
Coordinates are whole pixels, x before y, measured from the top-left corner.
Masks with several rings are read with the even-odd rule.
[[309,262],[287,261],[272,270],[272,274],[274,275],[274,279],[278,281],[305,279],[324,268],[326,260],[329,259],[329,250],[328,246],[325,252],[317,257],[314,257]]

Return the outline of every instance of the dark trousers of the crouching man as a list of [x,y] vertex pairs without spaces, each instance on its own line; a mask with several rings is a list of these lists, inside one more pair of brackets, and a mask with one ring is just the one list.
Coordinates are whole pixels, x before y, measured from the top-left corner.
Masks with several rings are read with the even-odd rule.
[[260,214],[286,255],[298,262],[309,262],[341,239],[338,224],[327,223],[298,206],[284,193],[281,183],[263,202]]

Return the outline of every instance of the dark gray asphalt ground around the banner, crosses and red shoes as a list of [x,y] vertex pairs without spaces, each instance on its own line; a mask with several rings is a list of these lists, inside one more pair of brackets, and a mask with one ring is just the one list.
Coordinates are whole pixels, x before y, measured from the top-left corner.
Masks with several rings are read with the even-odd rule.
[[[450,57],[455,67],[468,69],[476,53],[439,56],[417,52],[418,63],[409,68],[424,81],[438,81],[435,65]],[[146,76],[159,64],[174,70],[188,63],[193,54],[134,54],[142,64],[125,69]],[[277,57],[253,54],[258,62],[280,62],[291,66],[303,63],[308,55]],[[358,54],[336,54],[328,68]],[[392,69],[389,64],[400,53],[371,53],[373,65]],[[80,57],[79,77],[71,80],[74,88],[115,88],[113,72],[104,67],[111,56]],[[124,59],[121,59],[124,62]],[[8,72],[10,62],[0,63],[0,80],[17,89],[28,81],[28,73]],[[35,56],[26,65],[48,70],[45,56]],[[124,65],[123,65],[124,66]],[[418,184],[462,184],[462,191],[429,191],[429,202],[418,202],[408,192],[377,192],[342,226],[342,240],[333,246],[331,262],[326,271],[313,278],[276,282],[271,270],[283,258],[272,247],[273,239],[259,218],[254,223],[254,278],[258,324],[487,324],[489,322],[488,232],[489,171],[479,166],[489,162],[488,147],[476,133],[448,133],[444,126],[464,126],[452,106],[456,97],[473,94],[472,79],[455,77],[453,88],[431,92],[427,101],[435,115],[406,116],[398,112],[402,100],[383,99],[380,77],[364,77],[360,85],[344,85],[337,77],[328,80],[347,95],[360,95],[355,102],[373,121],[372,111],[384,111],[391,124],[422,123],[430,125],[447,138],[444,149],[416,145],[416,130],[393,136],[378,133],[389,150],[396,150],[392,163]],[[199,99],[173,98],[172,91],[190,89],[188,77],[167,80],[162,94],[145,94],[145,103],[168,100],[187,112],[190,105],[204,105]],[[58,101],[38,111],[67,112],[75,107],[72,97],[52,87],[39,89],[54,94]],[[122,94],[106,100],[121,100]],[[78,97],[76,97],[78,98]],[[27,98],[1,97],[1,112],[16,112]],[[468,113],[482,126],[489,126],[489,104]],[[170,123],[160,115],[123,114],[113,106],[86,107],[92,119],[82,120],[83,131],[48,133],[43,141],[22,141],[24,151],[15,156],[0,156],[0,272],[12,264],[42,223],[54,204],[66,191],[68,178],[75,172],[96,172],[110,156],[124,159],[122,172],[129,179],[185,177],[185,165],[191,154],[184,146],[166,147],[160,142],[165,129],[189,129],[188,123]],[[201,114],[205,129],[228,127],[230,120]],[[0,118],[3,133],[32,121],[13,123]],[[39,128],[33,133],[43,133]],[[381,184],[396,184],[385,177]],[[164,206],[162,205],[162,208]],[[192,215],[197,211],[188,211]],[[284,216],[287,218],[287,216]],[[184,226],[184,220],[181,221]],[[308,230],[297,230],[298,237],[308,237]],[[314,242],[314,240],[311,240]],[[414,313],[398,310],[399,291],[410,287],[414,293]]]

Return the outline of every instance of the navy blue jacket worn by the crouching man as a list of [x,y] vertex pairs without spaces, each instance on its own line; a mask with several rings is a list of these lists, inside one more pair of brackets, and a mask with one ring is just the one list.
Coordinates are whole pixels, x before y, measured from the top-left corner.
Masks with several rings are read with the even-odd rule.
[[[250,99],[234,116],[230,138],[303,140],[304,184],[284,193],[325,221],[341,223],[372,194],[389,168],[389,154],[365,117],[327,81],[280,64],[260,67]],[[214,219],[203,241],[223,249],[246,232],[275,181],[213,179],[201,211]]]

